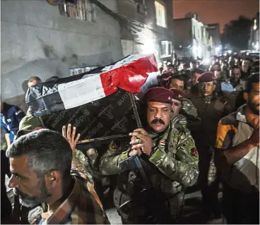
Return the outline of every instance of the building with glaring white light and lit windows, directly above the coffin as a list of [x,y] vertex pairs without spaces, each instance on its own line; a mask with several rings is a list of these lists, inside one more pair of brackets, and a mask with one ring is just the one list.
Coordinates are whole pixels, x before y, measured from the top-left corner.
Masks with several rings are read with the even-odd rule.
[[158,62],[173,56],[173,16],[171,0],[120,0],[117,13],[127,18],[122,23],[124,56],[155,54]]

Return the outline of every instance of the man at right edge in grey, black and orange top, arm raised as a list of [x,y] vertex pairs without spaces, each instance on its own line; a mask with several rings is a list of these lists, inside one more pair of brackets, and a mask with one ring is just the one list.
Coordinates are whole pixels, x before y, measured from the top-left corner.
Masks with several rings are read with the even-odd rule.
[[228,224],[259,224],[259,73],[247,78],[244,104],[218,123],[215,165]]

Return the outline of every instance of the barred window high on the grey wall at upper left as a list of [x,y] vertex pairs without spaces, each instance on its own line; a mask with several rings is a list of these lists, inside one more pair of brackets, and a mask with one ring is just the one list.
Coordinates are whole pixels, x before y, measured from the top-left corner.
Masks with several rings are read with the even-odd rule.
[[61,16],[76,18],[78,20],[87,20],[95,22],[95,6],[89,0],[64,0],[59,4],[59,13]]

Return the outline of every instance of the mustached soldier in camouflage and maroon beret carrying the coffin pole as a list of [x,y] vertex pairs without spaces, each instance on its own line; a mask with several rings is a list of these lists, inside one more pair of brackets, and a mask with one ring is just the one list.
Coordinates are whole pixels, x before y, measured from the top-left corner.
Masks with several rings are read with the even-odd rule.
[[[177,223],[184,204],[184,190],[196,182],[199,174],[198,153],[189,130],[182,126],[175,128],[170,119],[172,91],[151,88],[143,102],[147,104],[146,130],[130,133],[130,143],[111,142],[100,159],[100,172],[119,174],[114,205],[124,224]],[[138,193],[133,171],[121,164],[133,155],[140,157],[154,190],[148,196],[145,191]],[[157,218],[151,221],[150,215]]]

